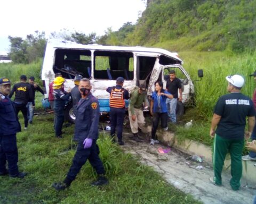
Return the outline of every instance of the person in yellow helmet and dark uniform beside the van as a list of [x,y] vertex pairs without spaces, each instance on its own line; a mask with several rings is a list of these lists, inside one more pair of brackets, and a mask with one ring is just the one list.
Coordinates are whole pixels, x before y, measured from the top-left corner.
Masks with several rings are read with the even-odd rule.
[[64,107],[66,100],[70,97],[70,92],[64,90],[63,83],[65,79],[57,77],[53,81],[53,97],[54,97],[54,130],[55,137],[62,138],[62,125],[64,122]]

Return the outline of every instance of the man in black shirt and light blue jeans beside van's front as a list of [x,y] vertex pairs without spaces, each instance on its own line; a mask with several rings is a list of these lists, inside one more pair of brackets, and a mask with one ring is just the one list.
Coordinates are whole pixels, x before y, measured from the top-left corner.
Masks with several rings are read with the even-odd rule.
[[172,123],[177,122],[176,118],[176,107],[178,103],[178,90],[179,90],[179,101],[182,101],[182,89],[181,81],[176,77],[175,71],[171,70],[169,73],[170,78],[166,82],[166,91],[173,95],[173,98],[166,99],[166,106],[168,110],[168,120]]

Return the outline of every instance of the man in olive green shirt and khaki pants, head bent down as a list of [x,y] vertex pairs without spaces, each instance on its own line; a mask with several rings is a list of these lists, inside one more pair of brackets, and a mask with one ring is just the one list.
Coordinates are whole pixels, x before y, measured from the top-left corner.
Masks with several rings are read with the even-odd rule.
[[129,120],[133,133],[132,139],[137,142],[141,142],[138,137],[138,128],[145,131],[145,117],[142,111],[143,103],[149,106],[146,85],[140,84],[140,87],[137,87],[131,92],[129,103]]

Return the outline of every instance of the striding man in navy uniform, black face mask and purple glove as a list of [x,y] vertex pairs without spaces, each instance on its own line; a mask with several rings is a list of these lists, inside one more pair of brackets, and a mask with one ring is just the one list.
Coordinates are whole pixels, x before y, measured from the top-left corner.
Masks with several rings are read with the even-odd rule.
[[91,185],[108,184],[108,180],[104,176],[105,169],[99,157],[99,147],[96,143],[99,137],[99,101],[91,94],[91,89],[90,80],[86,78],[81,79],[79,82],[79,91],[82,98],[77,105],[74,134],[74,140],[78,142],[77,150],[65,180],[52,184],[53,188],[58,191],[64,190],[70,186],[87,159],[98,174],[98,180],[92,182]]

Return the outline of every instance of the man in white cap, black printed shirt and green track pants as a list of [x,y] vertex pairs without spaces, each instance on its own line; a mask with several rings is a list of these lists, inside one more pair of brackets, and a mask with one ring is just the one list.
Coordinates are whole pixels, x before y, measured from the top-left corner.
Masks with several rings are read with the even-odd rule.
[[[229,152],[232,176],[229,183],[236,191],[241,185],[244,137],[248,139],[251,136],[255,124],[255,111],[252,100],[241,93],[244,78],[235,74],[226,77],[226,80],[230,94],[221,96],[217,101],[210,129],[210,137],[214,138],[214,177],[211,177],[210,181],[214,185],[221,186],[222,167]],[[246,117],[248,117],[248,131],[245,132]]]

